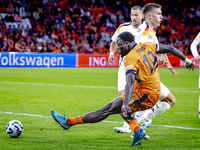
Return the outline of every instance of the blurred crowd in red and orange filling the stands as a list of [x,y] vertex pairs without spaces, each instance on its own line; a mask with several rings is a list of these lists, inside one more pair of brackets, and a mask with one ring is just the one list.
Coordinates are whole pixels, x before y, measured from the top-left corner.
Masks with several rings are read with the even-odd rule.
[[[117,27],[130,21],[134,5],[162,5],[160,43],[190,53],[200,31],[200,4],[189,0],[1,0],[3,52],[109,53]],[[23,23],[22,23],[23,22]]]

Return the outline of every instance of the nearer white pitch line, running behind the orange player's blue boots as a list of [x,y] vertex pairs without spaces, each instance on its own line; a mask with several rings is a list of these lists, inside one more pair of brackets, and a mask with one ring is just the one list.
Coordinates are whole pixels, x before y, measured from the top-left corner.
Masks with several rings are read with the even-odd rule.
[[[33,116],[33,117],[41,117],[41,118],[52,118],[52,116],[42,116],[42,115],[26,114],[26,113],[14,113],[14,112],[3,112],[3,111],[0,111],[0,113],[9,114],[9,115],[20,115],[20,116]],[[121,123],[121,124],[123,123],[123,122],[107,121],[107,120],[103,120],[101,122],[106,122],[106,123]],[[152,124],[151,126],[176,128],[176,129],[185,129],[185,130],[200,130],[200,128],[188,128],[188,127],[169,126],[169,125],[153,125]]]

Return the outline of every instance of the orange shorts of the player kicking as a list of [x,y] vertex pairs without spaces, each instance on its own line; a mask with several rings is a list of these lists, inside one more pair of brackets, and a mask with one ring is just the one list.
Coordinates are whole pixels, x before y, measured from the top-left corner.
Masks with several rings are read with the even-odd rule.
[[[132,112],[135,113],[153,107],[158,102],[159,97],[160,94],[146,94],[139,91],[137,93],[133,92],[128,105],[132,109]],[[121,98],[124,101],[125,95],[122,95]]]

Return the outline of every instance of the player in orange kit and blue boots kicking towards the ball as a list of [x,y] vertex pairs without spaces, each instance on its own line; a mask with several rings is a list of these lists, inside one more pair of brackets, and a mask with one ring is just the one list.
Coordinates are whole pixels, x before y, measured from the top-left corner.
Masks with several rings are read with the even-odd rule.
[[[134,113],[153,107],[159,99],[160,78],[156,53],[162,53],[162,51],[157,52],[157,46],[153,43],[136,44],[134,40],[134,36],[130,32],[121,33],[117,39],[119,53],[121,56],[125,56],[125,95],[112,100],[99,110],[73,118],[62,116],[52,110],[51,114],[54,120],[63,129],[68,130],[77,124],[100,122],[109,115],[122,113],[135,133],[131,145],[141,144],[146,132],[138,125]],[[163,48],[162,50],[163,53],[171,53],[181,60],[186,59],[183,53],[177,49],[169,51]],[[194,69],[194,64],[188,64],[187,68]]]

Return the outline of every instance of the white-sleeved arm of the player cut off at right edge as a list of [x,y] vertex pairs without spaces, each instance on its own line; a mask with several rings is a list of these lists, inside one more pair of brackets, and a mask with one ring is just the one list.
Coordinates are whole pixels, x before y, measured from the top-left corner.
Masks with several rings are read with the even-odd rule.
[[195,38],[195,40],[192,42],[190,49],[192,52],[192,55],[194,56],[194,58],[196,59],[197,63],[200,65],[200,55],[198,54],[197,51],[197,46],[200,43],[200,39]]

